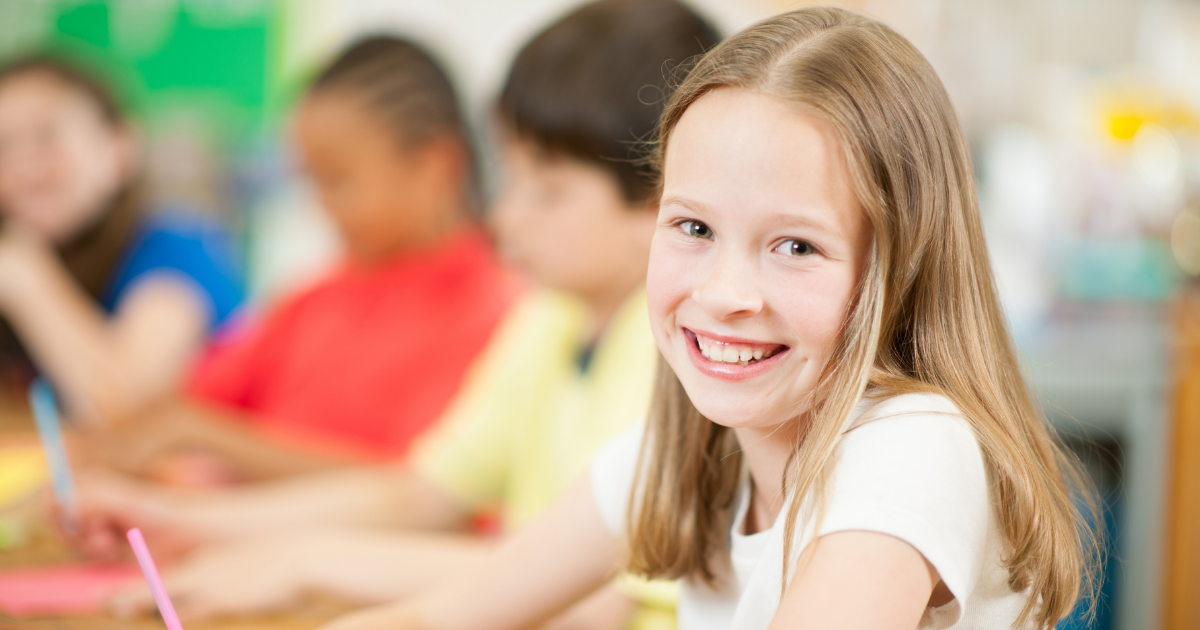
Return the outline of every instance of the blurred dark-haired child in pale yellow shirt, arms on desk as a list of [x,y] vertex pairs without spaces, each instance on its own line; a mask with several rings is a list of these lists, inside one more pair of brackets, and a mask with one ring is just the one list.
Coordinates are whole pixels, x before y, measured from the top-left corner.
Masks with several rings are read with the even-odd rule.
[[[643,289],[654,187],[636,142],[661,110],[647,95],[665,94],[666,74],[716,41],[674,0],[602,0],[521,50],[499,100],[506,175],[493,211],[504,251],[552,290],[517,306],[410,469],[214,498],[104,484],[85,493],[94,514],[209,538],[260,534],[202,550],[172,574],[197,616],[286,606],[312,589],[383,601],[476,562],[491,542],[475,535],[278,532],[461,530],[492,506],[512,530],[644,415],[656,355]],[[630,595],[646,606],[635,612]],[[634,614],[670,626],[672,604],[670,588],[606,587],[558,623],[620,628]]]

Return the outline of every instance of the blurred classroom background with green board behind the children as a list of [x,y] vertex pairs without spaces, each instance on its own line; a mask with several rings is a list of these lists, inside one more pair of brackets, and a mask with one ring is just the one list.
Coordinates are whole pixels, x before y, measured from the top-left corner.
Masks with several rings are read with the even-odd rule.
[[[49,48],[116,85],[154,197],[228,221],[262,304],[337,253],[284,134],[319,62],[364,34],[413,35],[452,68],[486,144],[517,46],[575,4],[5,0],[0,59]],[[732,32],[810,2],[694,4]],[[1086,628],[1198,628],[1200,4],[833,4],[911,38],[958,108],[1027,373],[1106,502],[1106,599]]]

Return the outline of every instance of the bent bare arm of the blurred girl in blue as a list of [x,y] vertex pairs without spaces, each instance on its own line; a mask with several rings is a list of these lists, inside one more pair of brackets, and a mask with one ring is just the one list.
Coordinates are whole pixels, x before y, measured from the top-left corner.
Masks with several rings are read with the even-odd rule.
[[80,419],[122,419],[169,391],[204,338],[208,308],[162,277],[106,317],[49,246],[11,226],[0,232],[0,313]]

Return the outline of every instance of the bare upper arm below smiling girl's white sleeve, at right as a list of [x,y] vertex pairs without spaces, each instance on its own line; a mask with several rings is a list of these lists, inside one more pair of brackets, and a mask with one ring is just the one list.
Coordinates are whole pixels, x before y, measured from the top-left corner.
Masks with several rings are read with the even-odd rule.
[[828,534],[798,569],[770,629],[912,630],[938,582],[934,566],[898,538]]

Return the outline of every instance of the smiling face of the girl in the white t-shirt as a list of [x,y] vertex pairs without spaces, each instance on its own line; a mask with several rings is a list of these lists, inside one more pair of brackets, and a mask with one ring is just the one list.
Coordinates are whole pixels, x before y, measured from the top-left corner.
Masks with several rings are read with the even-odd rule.
[[740,89],[692,103],[667,146],[647,288],[696,408],[731,427],[803,414],[870,246],[827,122]]

